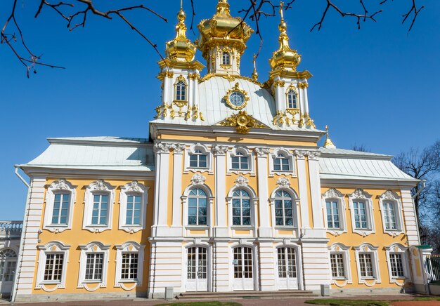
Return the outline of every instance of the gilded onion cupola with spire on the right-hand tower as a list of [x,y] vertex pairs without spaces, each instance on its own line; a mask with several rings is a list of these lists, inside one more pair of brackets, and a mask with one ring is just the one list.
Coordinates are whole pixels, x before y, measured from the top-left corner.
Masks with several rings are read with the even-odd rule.
[[296,50],[293,50],[289,46],[287,25],[283,16],[283,2],[280,3],[280,16],[281,22],[280,25],[278,25],[278,29],[280,30],[280,36],[278,37],[280,47],[273,53],[272,58],[269,60],[269,64],[271,65],[272,69],[280,68],[295,72],[297,71],[299,62],[301,62],[301,55],[299,55]]

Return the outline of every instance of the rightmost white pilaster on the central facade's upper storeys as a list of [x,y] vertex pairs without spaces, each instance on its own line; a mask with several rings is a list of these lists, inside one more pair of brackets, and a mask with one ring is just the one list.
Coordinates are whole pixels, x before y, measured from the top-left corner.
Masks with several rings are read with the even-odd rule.
[[318,157],[320,156],[320,154],[321,153],[318,151],[310,151],[307,153],[309,157],[309,182],[313,218],[313,232],[314,236],[325,237],[323,210],[321,208],[321,180],[319,178],[318,162]]

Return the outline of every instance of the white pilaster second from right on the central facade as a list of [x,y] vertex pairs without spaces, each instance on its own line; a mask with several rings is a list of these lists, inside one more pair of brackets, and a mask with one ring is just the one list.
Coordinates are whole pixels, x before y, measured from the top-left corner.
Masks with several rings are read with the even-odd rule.
[[307,194],[307,178],[306,178],[306,160],[304,157],[305,154],[306,154],[305,151],[295,150],[295,155],[297,156],[297,168],[298,168],[299,208],[301,210],[300,224],[302,228],[310,229],[309,199]]

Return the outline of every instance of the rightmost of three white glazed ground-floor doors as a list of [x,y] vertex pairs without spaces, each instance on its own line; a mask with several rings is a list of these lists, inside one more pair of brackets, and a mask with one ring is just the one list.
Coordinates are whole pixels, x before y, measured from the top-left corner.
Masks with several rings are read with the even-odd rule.
[[298,288],[297,253],[295,248],[278,248],[278,288],[293,290]]

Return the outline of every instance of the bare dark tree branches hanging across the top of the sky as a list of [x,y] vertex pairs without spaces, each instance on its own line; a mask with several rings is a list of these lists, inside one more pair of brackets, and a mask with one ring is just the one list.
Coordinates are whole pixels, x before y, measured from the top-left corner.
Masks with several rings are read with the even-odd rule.
[[[17,4],[18,0],[4,0],[11,2],[11,11],[8,14],[8,18],[4,22],[4,26],[0,32],[0,43],[7,46],[18,59],[18,61],[26,67],[27,76],[29,77],[30,72],[37,72],[37,66],[46,66],[52,68],[63,68],[56,65],[51,65],[41,61],[41,55],[37,55],[34,51],[31,51],[31,48],[27,46],[25,43],[25,35],[22,33],[20,28],[20,22],[18,20],[17,14]],[[238,13],[242,14],[242,20],[251,20],[254,25],[254,29],[256,29],[256,34],[259,35],[261,42],[261,30],[259,27],[259,20],[262,16],[270,17],[275,15],[276,9],[283,7],[285,11],[288,11],[292,8],[292,6],[302,0],[287,0],[287,3],[284,5],[283,2],[277,4],[272,0],[248,0],[243,4],[240,1],[240,5],[242,8],[238,8]],[[305,1],[305,0],[304,0]],[[393,1],[393,0],[392,0]],[[359,8],[358,11],[347,11],[344,9],[344,4],[335,4],[335,0],[321,0],[323,3],[322,15],[321,19],[314,23],[310,29],[321,30],[323,27],[323,23],[325,18],[327,17],[330,11],[336,12],[341,17],[349,17],[351,19],[356,20],[356,25],[358,29],[361,28],[361,22],[373,21],[376,22],[377,14],[381,13],[384,6],[392,1],[389,0],[376,0],[375,2],[365,4],[364,0],[359,0]],[[410,21],[410,26],[408,28],[408,32],[413,28],[414,22],[418,17],[420,11],[425,8],[425,6],[418,6],[417,1],[420,0],[406,0],[408,1],[409,9],[406,13],[402,15],[402,23],[406,22],[406,20]],[[145,0],[138,0],[138,4],[134,6],[126,6],[126,1],[112,1],[111,4],[102,4],[96,0],[39,0],[35,1],[37,3],[35,18],[38,18],[41,15],[41,12],[44,10],[50,10],[54,13],[58,18],[62,18],[65,20],[67,28],[72,31],[73,29],[77,29],[78,27],[85,27],[86,21],[88,20],[90,15],[96,16],[98,18],[105,18],[107,20],[112,20],[113,18],[119,18],[123,20],[124,23],[132,30],[134,30],[141,39],[145,40],[150,44],[152,48],[157,52],[157,54],[162,58],[160,51],[157,49],[157,44],[153,41],[150,41],[148,36],[141,32],[141,30],[134,25],[129,18],[127,18],[127,11],[140,11],[151,13],[155,15],[160,20],[167,22],[168,20],[156,11],[153,11],[148,6],[148,2]],[[110,8],[98,8],[98,4],[102,6],[110,6]],[[190,29],[193,29],[194,25],[194,17],[195,17],[195,5],[194,0],[190,0],[192,14],[191,14],[191,22]],[[373,11],[374,13],[370,13]],[[240,25],[239,25],[240,26]],[[15,32],[18,32],[16,34]],[[20,45],[16,45],[15,42],[19,41]],[[261,44],[260,44],[261,45]]]

